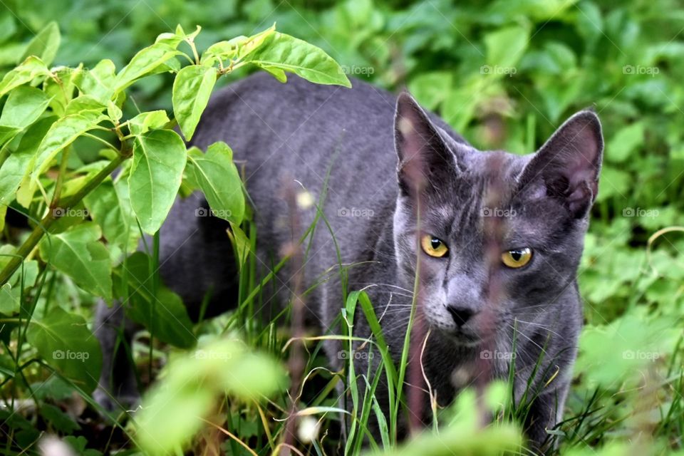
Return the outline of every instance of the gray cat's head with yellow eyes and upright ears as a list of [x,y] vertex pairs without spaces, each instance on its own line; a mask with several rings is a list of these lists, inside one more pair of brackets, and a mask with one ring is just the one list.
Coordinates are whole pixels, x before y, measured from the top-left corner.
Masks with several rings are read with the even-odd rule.
[[537,152],[518,156],[457,142],[403,94],[395,147],[395,252],[408,283],[420,258],[430,326],[475,344],[574,292],[601,169],[596,114],[576,113]]

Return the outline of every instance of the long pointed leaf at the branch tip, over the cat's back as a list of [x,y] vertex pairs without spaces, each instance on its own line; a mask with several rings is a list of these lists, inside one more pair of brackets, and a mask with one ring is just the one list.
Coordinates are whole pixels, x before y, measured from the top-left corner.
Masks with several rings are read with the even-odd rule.
[[274,32],[264,44],[244,58],[261,68],[278,68],[318,84],[351,87],[336,61],[321,48],[293,36]]

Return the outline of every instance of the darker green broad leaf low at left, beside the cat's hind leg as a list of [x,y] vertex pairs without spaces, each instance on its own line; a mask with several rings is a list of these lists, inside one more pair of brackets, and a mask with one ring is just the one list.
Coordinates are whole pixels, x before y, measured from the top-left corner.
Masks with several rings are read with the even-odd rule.
[[34,316],[26,338],[59,373],[88,392],[95,390],[102,369],[102,352],[82,316],[68,314],[53,305],[45,317]]

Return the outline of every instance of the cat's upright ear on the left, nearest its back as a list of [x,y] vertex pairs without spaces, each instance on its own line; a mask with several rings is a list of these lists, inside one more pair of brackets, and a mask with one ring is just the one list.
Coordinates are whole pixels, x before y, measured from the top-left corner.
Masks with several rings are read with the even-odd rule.
[[408,93],[402,93],[397,99],[394,132],[402,195],[415,196],[426,187],[435,187],[455,176],[456,156],[437,126]]

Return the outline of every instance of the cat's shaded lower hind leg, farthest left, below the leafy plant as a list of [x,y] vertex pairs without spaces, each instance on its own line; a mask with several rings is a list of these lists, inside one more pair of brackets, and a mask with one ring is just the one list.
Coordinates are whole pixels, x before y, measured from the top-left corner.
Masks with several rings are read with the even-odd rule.
[[139,327],[125,318],[123,306],[98,302],[95,337],[102,349],[102,373],[93,399],[108,412],[133,408],[140,401],[135,366],[130,362],[133,336]]

